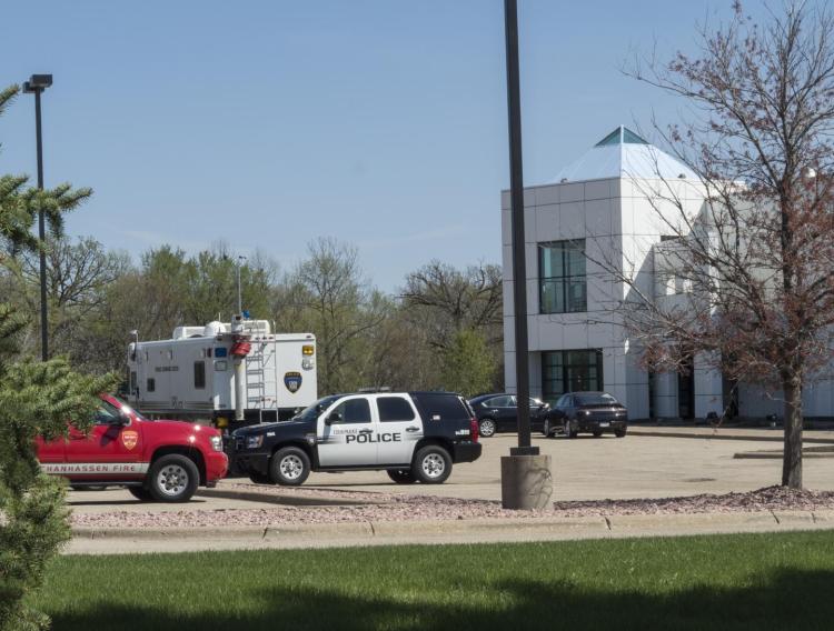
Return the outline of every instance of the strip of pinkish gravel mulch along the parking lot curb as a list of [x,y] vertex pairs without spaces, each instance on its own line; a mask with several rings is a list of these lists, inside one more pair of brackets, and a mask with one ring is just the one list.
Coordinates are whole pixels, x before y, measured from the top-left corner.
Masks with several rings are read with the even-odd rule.
[[[242,484],[264,493],[297,493],[308,497],[328,493],[346,499],[349,491],[318,489],[272,489]],[[367,501],[370,493],[354,493]],[[756,511],[815,511],[834,509],[832,491],[792,491],[767,487],[745,493],[702,494],[661,500],[595,500],[554,502],[552,510],[509,511],[500,502],[460,500],[427,495],[374,493],[379,503],[336,507],[282,507],[264,509],[183,510],[170,512],[73,513],[72,524],[95,528],[199,528],[199,527],[278,527],[310,523],[365,521],[431,521],[484,518],[576,518],[633,514],[732,513]]]

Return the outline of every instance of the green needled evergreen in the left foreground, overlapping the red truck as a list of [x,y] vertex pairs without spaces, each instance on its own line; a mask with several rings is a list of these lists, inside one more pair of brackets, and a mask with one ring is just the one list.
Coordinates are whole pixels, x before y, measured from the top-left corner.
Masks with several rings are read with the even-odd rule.
[[[0,93],[0,113],[17,94]],[[38,191],[23,177],[0,177],[0,264],[39,243],[31,230],[43,209],[50,233],[59,236],[62,213],[89,197],[88,189],[62,184]],[[110,378],[72,372],[63,359],[44,363],[17,360],[26,312],[0,304],[0,629],[46,629],[49,619],[23,599],[42,582],[46,563],[69,537],[64,484],[41,473],[34,439],[64,434],[67,423],[83,429],[92,418],[96,394]]]

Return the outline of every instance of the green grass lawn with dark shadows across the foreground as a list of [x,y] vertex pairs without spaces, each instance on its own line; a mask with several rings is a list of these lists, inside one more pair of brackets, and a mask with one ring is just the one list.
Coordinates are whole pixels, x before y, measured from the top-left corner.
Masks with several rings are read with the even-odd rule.
[[61,629],[832,629],[834,532],[61,557]]

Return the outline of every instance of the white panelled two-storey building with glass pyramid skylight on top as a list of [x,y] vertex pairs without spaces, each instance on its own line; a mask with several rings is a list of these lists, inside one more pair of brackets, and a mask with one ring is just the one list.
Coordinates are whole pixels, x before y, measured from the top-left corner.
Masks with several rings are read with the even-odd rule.
[[[606,270],[622,266],[655,296],[686,291],[661,270],[661,243],[675,234],[667,222],[679,220],[679,211],[669,204],[666,212],[663,201],[648,199],[653,190],[668,187],[687,213],[699,212],[704,196],[697,177],[619,127],[563,169],[554,183],[525,188],[530,393],[553,402],[566,391],[605,390],[628,408],[631,419],[704,419],[713,412],[721,417],[725,409],[747,418],[781,415],[778,392],[746,384],[734,389],[702,358],[694,359],[688,374],[648,374],[638,365],[639,349],[629,344],[614,309],[628,286]],[[509,206],[504,191],[505,383],[514,391]],[[807,385],[804,405],[806,418],[834,417],[830,374]]]

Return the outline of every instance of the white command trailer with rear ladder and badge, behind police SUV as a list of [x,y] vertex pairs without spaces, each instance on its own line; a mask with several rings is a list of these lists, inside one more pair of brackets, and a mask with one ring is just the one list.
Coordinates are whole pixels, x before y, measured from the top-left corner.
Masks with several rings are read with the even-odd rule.
[[318,398],[316,338],[240,316],[132,342],[128,369],[128,399],[143,413],[219,428],[285,420]]

